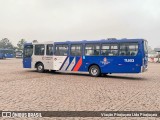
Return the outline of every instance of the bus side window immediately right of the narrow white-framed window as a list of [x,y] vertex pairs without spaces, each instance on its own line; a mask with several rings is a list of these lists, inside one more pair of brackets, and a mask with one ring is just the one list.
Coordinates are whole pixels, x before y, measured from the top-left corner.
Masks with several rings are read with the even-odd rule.
[[67,56],[68,55],[68,45],[56,45],[55,55]]

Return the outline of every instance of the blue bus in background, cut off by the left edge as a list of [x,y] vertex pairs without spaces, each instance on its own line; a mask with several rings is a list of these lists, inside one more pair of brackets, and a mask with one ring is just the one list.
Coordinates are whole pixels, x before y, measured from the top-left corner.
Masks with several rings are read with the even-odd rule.
[[13,49],[0,49],[0,58],[14,58],[15,51]]

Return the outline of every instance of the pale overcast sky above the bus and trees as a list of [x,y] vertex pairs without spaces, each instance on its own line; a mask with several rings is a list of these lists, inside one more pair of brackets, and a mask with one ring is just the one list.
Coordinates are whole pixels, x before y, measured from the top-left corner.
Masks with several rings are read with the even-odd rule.
[[0,0],[2,38],[144,38],[160,47],[160,0]]

